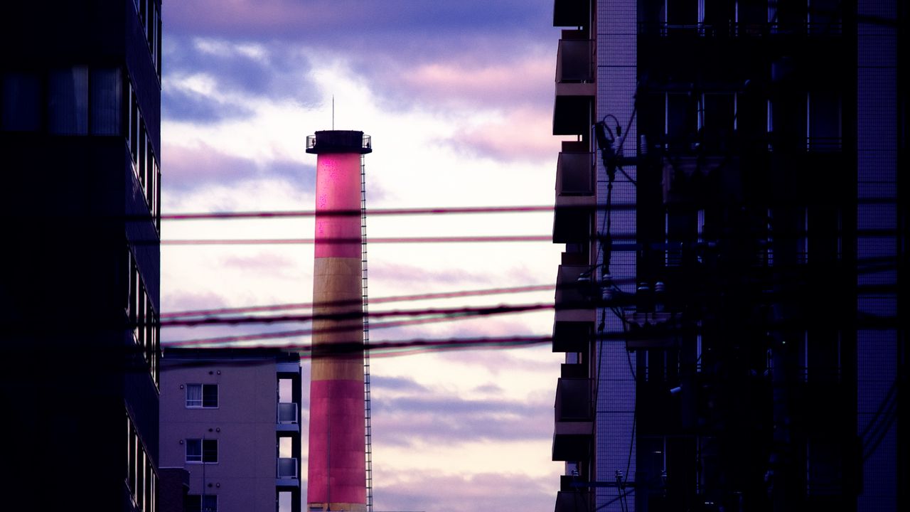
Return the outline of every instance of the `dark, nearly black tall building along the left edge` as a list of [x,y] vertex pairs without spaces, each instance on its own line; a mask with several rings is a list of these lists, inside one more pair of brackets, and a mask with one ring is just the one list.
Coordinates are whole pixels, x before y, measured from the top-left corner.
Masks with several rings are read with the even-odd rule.
[[157,509],[161,3],[5,3],[7,497]]

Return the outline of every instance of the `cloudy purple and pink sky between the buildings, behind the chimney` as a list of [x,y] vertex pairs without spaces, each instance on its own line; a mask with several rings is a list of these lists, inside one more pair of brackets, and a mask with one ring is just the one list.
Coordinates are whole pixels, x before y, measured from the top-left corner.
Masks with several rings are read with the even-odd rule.
[[[559,150],[550,135],[559,39],[551,16],[552,0],[165,2],[164,212],[311,210],[316,158],[304,151],[305,138],[332,128],[333,96],[335,128],[372,136],[369,208],[551,205]],[[541,235],[551,222],[547,212],[382,216],[368,220],[368,233]],[[312,233],[307,218],[166,220],[162,237]],[[560,251],[545,241],[375,243],[369,293],[550,284]],[[162,309],[309,302],[312,253],[311,245],[165,246]],[[550,290],[370,311],[552,299]],[[306,327],[163,335],[174,343]],[[370,337],[547,335],[551,327],[545,310],[374,329]],[[374,358],[376,510],[551,510],[561,473],[550,460],[560,363],[547,345]]]

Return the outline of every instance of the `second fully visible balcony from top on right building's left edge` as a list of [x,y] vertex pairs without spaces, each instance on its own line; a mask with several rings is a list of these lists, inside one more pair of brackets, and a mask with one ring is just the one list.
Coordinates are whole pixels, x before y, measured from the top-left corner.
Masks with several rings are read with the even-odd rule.
[[553,210],[553,242],[571,243],[591,238],[594,195],[594,164],[591,152],[561,151],[556,161],[556,208]]

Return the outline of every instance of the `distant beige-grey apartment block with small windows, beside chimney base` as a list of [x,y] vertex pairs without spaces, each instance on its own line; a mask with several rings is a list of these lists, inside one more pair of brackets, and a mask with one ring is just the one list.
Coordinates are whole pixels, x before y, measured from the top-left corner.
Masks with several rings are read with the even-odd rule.
[[185,510],[300,510],[300,357],[166,348],[161,467],[189,472]]

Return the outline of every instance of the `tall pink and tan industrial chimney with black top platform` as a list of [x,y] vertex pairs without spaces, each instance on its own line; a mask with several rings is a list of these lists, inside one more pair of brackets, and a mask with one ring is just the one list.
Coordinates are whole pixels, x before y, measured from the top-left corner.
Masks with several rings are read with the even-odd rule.
[[309,510],[367,510],[360,159],[371,151],[362,131],[307,138],[317,155]]

